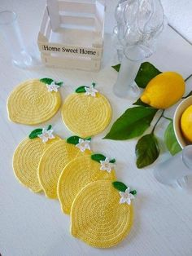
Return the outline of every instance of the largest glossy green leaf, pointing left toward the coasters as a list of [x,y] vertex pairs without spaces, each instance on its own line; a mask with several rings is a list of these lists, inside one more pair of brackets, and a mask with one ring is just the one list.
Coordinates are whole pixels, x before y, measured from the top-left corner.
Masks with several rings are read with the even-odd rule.
[[136,108],[128,108],[125,113],[119,117],[110,132],[104,139],[133,139],[143,134],[143,132],[151,125],[151,121],[155,117],[158,109],[145,108],[143,106]]

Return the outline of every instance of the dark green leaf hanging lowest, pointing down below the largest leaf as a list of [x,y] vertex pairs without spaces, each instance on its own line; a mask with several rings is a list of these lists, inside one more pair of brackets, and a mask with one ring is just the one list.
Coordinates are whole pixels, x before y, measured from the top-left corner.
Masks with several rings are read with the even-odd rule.
[[139,139],[135,153],[137,168],[151,165],[159,157],[159,143],[155,135],[144,135]]

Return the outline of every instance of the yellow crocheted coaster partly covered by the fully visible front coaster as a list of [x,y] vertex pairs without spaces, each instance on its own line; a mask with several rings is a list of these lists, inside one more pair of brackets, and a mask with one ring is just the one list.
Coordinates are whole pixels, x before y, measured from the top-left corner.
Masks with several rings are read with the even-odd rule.
[[70,161],[58,182],[58,197],[63,213],[70,214],[72,202],[81,188],[96,180],[115,180],[115,159],[109,161],[101,154],[82,156]]

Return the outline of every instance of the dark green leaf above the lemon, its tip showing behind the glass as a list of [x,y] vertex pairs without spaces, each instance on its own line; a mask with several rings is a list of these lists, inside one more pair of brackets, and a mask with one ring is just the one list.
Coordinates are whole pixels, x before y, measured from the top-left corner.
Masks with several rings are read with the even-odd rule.
[[[116,69],[117,72],[120,71],[120,64],[116,66],[112,66],[112,68]],[[148,82],[151,81],[152,78],[156,77],[161,73],[155,66],[149,62],[143,62],[138,69],[137,76],[135,77],[135,82],[137,86],[141,88],[146,88]]]

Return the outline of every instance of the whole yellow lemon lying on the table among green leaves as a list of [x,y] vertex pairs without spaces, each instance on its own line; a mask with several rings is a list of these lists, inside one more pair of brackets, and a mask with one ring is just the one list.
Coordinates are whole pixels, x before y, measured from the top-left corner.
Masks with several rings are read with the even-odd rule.
[[176,72],[164,72],[151,79],[141,99],[154,108],[169,108],[181,99],[184,92],[183,77]]

